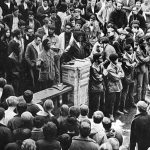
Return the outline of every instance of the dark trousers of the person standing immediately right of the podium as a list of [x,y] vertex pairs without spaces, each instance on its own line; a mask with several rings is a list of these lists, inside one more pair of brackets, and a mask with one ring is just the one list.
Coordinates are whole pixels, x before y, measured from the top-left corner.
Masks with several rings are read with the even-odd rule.
[[90,92],[89,94],[89,117],[91,118],[93,113],[97,110],[103,111],[104,106],[104,92]]

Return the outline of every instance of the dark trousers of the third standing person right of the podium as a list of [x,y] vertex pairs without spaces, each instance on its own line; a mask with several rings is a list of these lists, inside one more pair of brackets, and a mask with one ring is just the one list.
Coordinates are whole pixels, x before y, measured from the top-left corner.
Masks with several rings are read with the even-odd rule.
[[129,103],[134,103],[134,82],[129,83],[127,80],[122,80],[123,90],[121,94],[121,109],[124,109],[126,106],[127,96]]

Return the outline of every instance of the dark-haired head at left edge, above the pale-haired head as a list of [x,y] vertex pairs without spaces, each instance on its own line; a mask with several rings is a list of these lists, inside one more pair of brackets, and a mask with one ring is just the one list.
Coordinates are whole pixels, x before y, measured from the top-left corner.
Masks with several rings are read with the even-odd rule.
[[1,99],[6,99],[8,98],[9,96],[14,96],[15,95],[15,92],[14,92],[14,88],[12,85],[10,84],[6,84],[3,88],[3,93],[2,93],[2,96],[1,96]]

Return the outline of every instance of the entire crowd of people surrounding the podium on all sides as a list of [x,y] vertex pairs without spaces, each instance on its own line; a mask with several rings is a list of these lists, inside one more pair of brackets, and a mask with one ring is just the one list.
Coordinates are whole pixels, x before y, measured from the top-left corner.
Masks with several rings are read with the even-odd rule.
[[[74,59],[91,62],[89,105],[34,104]],[[113,122],[130,107],[129,148],[147,150],[149,74],[149,0],[1,0],[0,150],[128,149]]]

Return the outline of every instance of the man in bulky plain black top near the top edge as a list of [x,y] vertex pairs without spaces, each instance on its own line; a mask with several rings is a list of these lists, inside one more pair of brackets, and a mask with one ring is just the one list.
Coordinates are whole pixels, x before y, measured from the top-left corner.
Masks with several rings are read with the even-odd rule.
[[117,2],[116,9],[111,12],[108,22],[116,26],[117,29],[125,28],[127,26],[127,16],[126,13],[122,10],[121,2]]

